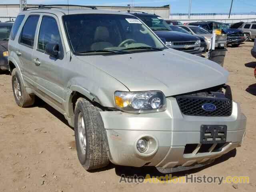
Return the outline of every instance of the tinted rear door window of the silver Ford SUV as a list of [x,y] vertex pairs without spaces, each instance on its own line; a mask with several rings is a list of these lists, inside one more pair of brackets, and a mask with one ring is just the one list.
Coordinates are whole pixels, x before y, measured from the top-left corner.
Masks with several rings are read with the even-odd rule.
[[38,15],[32,15],[28,17],[22,29],[20,43],[26,44],[28,46],[34,45],[34,38],[38,19]]

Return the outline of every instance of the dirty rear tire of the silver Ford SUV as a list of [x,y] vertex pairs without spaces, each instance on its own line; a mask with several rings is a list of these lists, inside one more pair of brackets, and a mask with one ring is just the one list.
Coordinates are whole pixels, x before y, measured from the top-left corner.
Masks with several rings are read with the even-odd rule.
[[[21,79],[21,75],[17,72],[16,68],[14,68],[14,70],[12,70],[12,91],[15,101],[20,107],[32,106],[35,102],[35,97],[26,92],[26,88]],[[15,92],[16,82],[19,84],[19,95]]]

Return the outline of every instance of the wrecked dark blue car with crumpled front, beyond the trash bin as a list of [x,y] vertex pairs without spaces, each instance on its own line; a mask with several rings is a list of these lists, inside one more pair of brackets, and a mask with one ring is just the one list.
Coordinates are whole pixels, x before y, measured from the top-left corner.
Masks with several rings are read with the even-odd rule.
[[245,40],[242,30],[232,29],[229,24],[220,22],[196,22],[190,23],[189,25],[200,26],[210,33],[215,29],[221,29],[228,36],[227,44],[233,47],[238,47]]

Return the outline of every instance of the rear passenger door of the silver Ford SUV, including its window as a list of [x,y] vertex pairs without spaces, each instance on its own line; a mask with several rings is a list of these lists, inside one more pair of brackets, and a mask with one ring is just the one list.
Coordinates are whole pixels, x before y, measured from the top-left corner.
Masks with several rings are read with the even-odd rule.
[[20,32],[18,39],[18,45],[15,49],[16,54],[20,58],[22,63],[24,79],[34,86],[34,71],[32,63],[32,53],[34,48],[34,39],[36,34],[36,28],[38,26],[40,15],[31,14],[26,19],[26,22]]

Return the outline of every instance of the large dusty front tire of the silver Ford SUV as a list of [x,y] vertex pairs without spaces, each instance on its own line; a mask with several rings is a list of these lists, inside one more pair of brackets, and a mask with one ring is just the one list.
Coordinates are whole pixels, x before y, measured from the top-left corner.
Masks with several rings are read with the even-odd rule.
[[[76,150],[78,159],[86,170],[102,168],[109,164],[106,130],[100,111],[102,111],[100,108],[92,105],[85,98],[79,98],[76,102],[74,112]],[[86,138],[84,142],[86,146],[80,142],[82,139],[79,133],[81,132],[78,130],[82,128],[81,121],[84,122],[84,134],[82,135]]]

